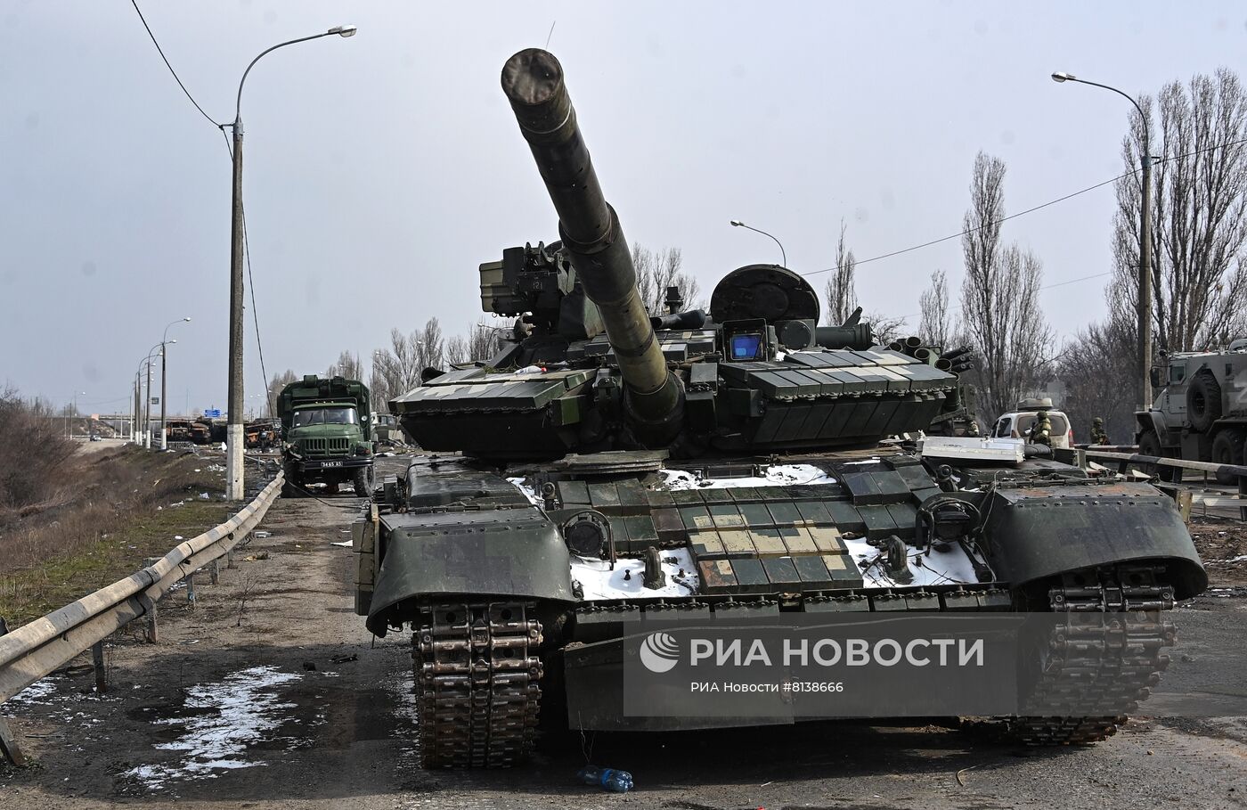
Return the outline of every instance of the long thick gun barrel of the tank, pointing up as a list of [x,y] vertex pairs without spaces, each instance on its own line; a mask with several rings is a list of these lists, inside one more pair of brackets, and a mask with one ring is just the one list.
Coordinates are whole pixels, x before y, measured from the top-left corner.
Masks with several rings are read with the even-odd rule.
[[601,311],[628,414],[640,433],[670,433],[665,428],[676,427],[682,416],[683,388],[655,339],[627,240],[597,182],[562,65],[541,49],[522,50],[506,60],[503,90],[559,212],[559,233],[571,265]]

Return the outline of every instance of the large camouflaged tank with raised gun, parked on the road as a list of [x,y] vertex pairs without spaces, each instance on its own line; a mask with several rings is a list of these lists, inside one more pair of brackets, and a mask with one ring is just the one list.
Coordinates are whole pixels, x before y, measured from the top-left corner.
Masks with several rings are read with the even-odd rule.
[[647,312],[559,61],[521,51],[503,89],[557,240],[480,266],[513,339],[389,403],[428,454],[354,528],[357,612],[412,632],[424,765],[515,765],[542,724],[753,724],[622,710],[626,620],[741,612],[1056,614],[1028,705],[1089,678],[1100,696],[999,720],[1028,743],[1111,734],[1165,666],[1165,610],[1207,584],[1171,500],[1020,442],[925,436],[964,417],[965,352],[819,327],[788,268],[726,273],[708,312],[677,291]]

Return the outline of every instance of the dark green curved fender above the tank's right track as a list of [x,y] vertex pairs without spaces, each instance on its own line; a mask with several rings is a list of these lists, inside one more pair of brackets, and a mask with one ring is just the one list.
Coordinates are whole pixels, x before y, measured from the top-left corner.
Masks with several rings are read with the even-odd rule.
[[983,513],[989,563],[1011,587],[1119,563],[1163,565],[1178,599],[1208,587],[1177,507],[1150,484],[999,488]]

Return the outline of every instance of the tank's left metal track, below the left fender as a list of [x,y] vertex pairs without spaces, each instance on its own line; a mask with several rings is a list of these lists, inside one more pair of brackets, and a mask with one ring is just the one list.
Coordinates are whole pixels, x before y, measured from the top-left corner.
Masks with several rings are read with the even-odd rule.
[[412,638],[420,761],[509,768],[532,748],[541,623],[514,602],[425,605]]

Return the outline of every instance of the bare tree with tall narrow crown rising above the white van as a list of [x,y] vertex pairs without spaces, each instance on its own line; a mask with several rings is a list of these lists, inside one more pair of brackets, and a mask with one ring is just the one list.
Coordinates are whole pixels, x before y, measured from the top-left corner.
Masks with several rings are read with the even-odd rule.
[[983,404],[993,413],[1046,377],[1052,344],[1039,306],[1042,262],[1029,250],[1000,243],[1004,177],[1004,161],[979,152],[961,237],[961,313],[981,362]]

